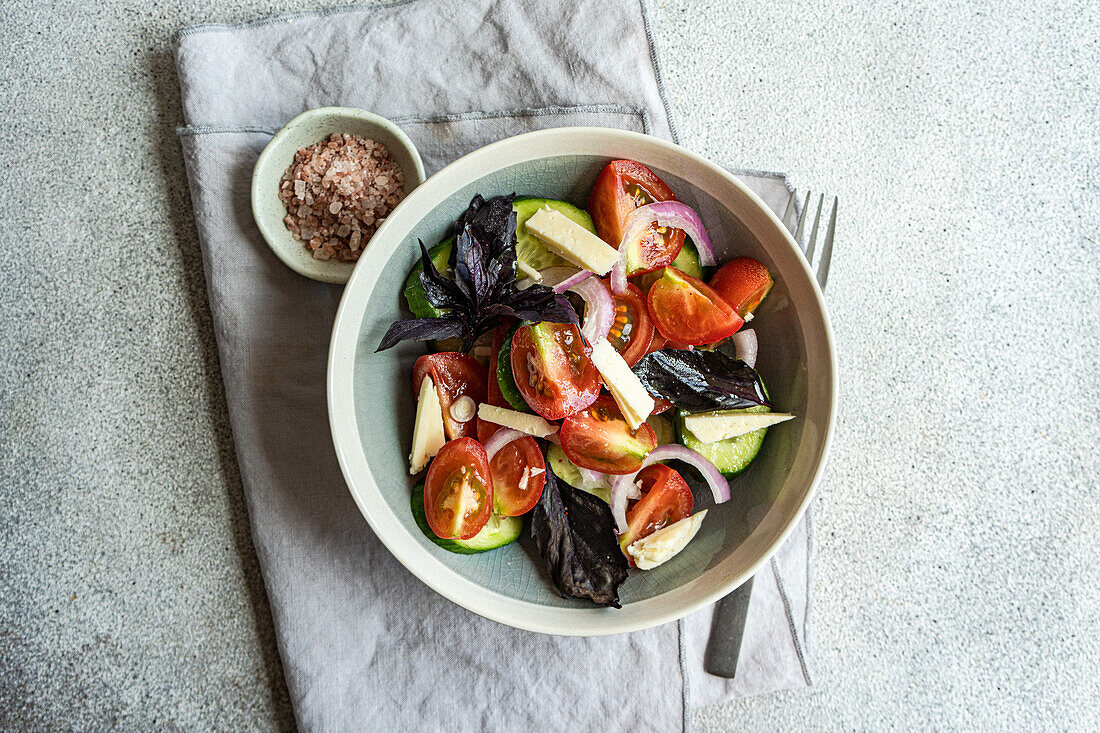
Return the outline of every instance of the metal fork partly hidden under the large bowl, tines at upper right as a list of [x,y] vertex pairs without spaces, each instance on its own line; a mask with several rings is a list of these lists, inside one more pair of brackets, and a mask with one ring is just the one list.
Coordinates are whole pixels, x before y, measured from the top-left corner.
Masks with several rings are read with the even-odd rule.
[[[837,199],[833,198],[833,212],[829,215],[825,241],[822,242],[820,252],[815,252],[817,244],[817,232],[822,221],[822,211],[825,209],[825,195],[817,198],[817,214],[814,216],[814,226],[810,230],[810,239],[803,243],[803,234],[806,230],[806,221],[810,219],[810,209],[813,204],[813,193],[806,192],[805,203],[802,206],[802,214],[798,212],[799,192],[791,193],[791,198],[787,201],[787,210],[780,221],[792,231],[794,241],[806,258],[811,272],[817,277],[817,284],[825,289],[828,281],[828,269],[833,262],[833,239],[836,236],[836,207]],[[817,266],[814,267],[814,255],[817,254]],[[711,625],[711,638],[706,644],[706,657],[704,667],[706,671],[717,677],[732,679],[737,674],[737,660],[741,655],[741,639],[745,636],[745,621],[749,614],[749,600],[752,595],[752,578],[746,580],[741,586],[734,589],[728,595],[718,601],[714,612],[714,621]]]

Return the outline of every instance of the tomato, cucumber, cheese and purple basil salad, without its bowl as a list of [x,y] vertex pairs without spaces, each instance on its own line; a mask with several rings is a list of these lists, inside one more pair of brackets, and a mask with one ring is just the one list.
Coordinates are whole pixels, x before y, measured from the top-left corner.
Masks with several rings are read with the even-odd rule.
[[684,472],[724,503],[794,417],[772,409],[745,327],[770,272],[719,263],[700,215],[631,160],[603,168],[586,209],[477,194],[418,245],[413,317],[378,344],[431,344],[409,364],[417,525],[458,554],[529,525],[562,595],[619,608],[630,569],[675,562],[705,522]]

